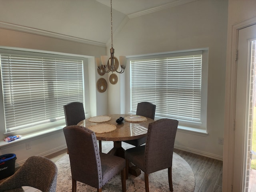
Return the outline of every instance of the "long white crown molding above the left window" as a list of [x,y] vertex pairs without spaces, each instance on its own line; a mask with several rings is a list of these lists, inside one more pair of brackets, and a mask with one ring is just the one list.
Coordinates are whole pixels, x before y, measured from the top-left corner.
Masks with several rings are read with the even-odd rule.
[[64,34],[59,34],[59,33],[54,33],[46,30],[40,30],[36,28],[30,28],[27,26],[21,26],[17,24],[12,24],[12,23],[7,23],[7,22],[2,22],[0,21],[0,28],[3,29],[8,29],[8,30],[14,30],[14,31],[20,31],[20,32],[25,32],[25,33],[30,33],[30,34],[36,34],[36,35],[41,35],[41,36],[46,36],[46,37],[51,37],[51,38],[57,38],[57,39],[62,39],[62,40],[68,40],[68,41],[73,41],[73,42],[78,42],[78,43],[84,43],[84,44],[89,44],[89,45],[94,45],[94,46],[100,46],[106,48],[105,43],[101,42],[96,42],[96,41],[91,41],[83,38],[77,38],[73,36],[68,36]]

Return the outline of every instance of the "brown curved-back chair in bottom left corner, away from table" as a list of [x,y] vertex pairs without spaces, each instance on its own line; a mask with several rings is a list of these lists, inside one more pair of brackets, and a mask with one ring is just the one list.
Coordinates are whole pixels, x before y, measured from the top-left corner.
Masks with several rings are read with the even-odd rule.
[[55,192],[57,166],[51,160],[31,156],[12,176],[0,184],[0,192],[22,192],[22,186],[30,186],[42,192]]

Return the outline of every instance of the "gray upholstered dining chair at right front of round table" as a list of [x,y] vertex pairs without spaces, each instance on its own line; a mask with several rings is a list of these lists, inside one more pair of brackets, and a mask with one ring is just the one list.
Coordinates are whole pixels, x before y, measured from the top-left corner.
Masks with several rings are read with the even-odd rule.
[[[168,168],[170,191],[172,188],[172,154],[178,121],[160,119],[148,125],[146,145],[127,149],[125,151],[126,171],[129,161],[144,172],[145,189],[149,192],[148,174]],[[126,172],[126,179],[128,172]]]

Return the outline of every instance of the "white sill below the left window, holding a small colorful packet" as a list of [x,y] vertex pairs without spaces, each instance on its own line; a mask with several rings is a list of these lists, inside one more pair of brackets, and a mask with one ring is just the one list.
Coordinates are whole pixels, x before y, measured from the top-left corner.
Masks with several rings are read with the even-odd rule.
[[11,142],[0,141],[0,150],[22,144],[22,143],[28,142],[30,140],[36,140],[38,138],[42,138],[42,137],[49,136],[51,134],[56,134],[56,133],[62,132],[64,126],[66,126],[66,125],[34,132],[31,134],[26,134],[26,135],[22,136],[20,139],[17,139],[17,140],[11,141]]

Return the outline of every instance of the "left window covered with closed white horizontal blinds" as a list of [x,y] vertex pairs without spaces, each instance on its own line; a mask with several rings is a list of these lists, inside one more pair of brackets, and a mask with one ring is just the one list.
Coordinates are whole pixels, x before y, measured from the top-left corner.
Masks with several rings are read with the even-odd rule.
[[65,124],[63,105],[84,102],[82,59],[0,50],[6,132]]

